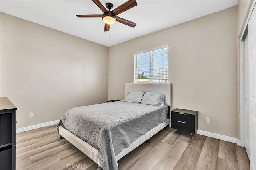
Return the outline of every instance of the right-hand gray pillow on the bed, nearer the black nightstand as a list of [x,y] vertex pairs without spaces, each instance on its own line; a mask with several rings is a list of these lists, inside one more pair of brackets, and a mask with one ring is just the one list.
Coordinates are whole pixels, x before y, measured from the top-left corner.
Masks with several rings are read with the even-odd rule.
[[145,92],[141,103],[164,106],[164,94],[158,92]]

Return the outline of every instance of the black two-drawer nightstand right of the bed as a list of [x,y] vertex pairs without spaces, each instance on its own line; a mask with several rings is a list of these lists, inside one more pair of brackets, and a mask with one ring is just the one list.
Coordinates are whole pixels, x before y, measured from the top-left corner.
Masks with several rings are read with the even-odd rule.
[[198,111],[174,109],[171,111],[171,127],[194,134],[198,129]]

